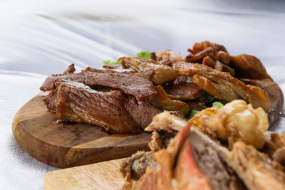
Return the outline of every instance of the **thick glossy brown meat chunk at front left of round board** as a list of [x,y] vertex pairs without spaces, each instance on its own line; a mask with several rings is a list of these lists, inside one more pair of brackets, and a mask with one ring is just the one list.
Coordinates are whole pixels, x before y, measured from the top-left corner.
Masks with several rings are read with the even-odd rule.
[[146,102],[138,104],[134,97],[125,97],[119,91],[98,92],[76,82],[58,84],[50,97],[46,104],[57,102],[58,120],[86,122],[118,133],[140,132],[161,112]]

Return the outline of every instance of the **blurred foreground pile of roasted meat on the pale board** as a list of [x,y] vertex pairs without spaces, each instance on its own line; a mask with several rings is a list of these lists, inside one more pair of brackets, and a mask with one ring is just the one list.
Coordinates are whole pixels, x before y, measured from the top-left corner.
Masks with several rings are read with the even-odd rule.
[[268,127],[264,110],[243,100],[207,108],[188,121],[162,112],[146,128],[153,130],[151,151],[121,165],[126,186],[285,189],[285,133],[267,132]]

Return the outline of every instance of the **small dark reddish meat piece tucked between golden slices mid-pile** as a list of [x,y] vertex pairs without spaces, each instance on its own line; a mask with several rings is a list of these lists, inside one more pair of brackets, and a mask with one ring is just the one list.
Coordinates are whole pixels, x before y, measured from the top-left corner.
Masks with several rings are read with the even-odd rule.
[[195,100],[203,96],[202,89],[192,83],[190,77],[179,76],[164,85],[168,97],[175,100]]

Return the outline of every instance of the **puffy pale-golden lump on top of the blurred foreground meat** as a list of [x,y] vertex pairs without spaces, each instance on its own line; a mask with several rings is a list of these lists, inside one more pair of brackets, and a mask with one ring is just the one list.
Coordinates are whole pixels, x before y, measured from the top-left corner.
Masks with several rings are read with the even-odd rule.
[[229,102],[222,109],[202,110],[189,122],[212,137],[228,140],[229,144],[241,140],[256,148],[264,146],[264,132],[269,127],[264,110],[254,109],[243,100]]

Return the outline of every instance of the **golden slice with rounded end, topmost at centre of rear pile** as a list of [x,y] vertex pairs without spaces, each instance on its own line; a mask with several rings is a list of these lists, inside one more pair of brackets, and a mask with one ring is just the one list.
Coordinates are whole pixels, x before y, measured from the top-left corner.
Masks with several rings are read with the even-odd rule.
[[175,80],[178,76],[177,70],[155,60],[147,60],[137,57],[121,59],[123,60],[123,64],[127,63],[130,68],[133,68],[133,70],[137,72],[149,69],[155,70],[155,75],[153,76],[152,81],[156,85],[162,85],[166,82]]

